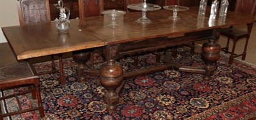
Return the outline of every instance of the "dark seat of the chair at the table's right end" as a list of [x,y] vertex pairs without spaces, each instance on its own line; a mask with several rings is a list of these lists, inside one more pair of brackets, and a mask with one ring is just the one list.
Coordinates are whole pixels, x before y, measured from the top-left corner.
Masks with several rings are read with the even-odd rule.
[[232,40],[239,40],[241,38],[246,38],[247,36],[249,36],[247,31],[241,31],[235,28],[221,29],[220,34],[223,36],[227,36]]

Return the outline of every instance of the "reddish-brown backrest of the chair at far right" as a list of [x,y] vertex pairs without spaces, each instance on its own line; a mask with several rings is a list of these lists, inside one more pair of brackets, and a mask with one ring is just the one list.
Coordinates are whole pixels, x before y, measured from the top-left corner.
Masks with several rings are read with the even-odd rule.
[[235,11],[246,15],[256,14],[256,0],[236,0]]

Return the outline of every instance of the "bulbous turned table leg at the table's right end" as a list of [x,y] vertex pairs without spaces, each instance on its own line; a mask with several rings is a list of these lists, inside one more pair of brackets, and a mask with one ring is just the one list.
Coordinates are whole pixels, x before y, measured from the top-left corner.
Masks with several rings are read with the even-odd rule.
[[211,75],[214,73],[214,66],[212,64],[220,57],[221,46],[215,41],[220,38],[220,31],[218,29],[213,31],[213,37],[207,43],[202,46],[202,60],[205,63],[205,75],[204,80],[210,80]]

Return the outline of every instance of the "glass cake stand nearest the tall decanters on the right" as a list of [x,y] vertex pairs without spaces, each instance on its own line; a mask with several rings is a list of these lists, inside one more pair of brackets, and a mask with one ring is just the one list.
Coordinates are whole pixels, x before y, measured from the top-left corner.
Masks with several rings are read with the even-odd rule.
[[178,6],[178,5],[171,5],[171,6],[163,6],[165,10],[172,10],[173,16],[168,17],[168,19],[177,20],[179,17],[177,16],[178,11],[187,11],[189,10],[188,7],[185,6]]

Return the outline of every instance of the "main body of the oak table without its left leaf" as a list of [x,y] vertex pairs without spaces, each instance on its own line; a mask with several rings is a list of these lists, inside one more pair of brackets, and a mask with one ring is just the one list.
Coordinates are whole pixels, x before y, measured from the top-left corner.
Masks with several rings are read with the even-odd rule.
[[[106,87],[108,92],[104,94],[104,100],[108,103],[108,110],[115,111],[119,97],[118,93],[124,85],[122,79],[135,77],[153,71],[164,70],[174,66],[179,71],[189,71],[195,73],[204,73],[205,80],[212,79],[214,72],[214,64],[220,54],[220,45],[215,43],[220,35],[220,29],[232,26],[234,24],[253,23],[255,18],[251,16],[241,15],[229,12],[225,22],[221,22],[218,17],[214,20],[209,17],[209,10],[203,20],[198,20],[198,7],[190,8],[189,11],[179,13],[181,18],[178,21],[167,19],[172,15],[172,11],[158,10],[147,12],[148,19],[152,20],[152,24],[142,26],[134,22],[141,17],[141,12],[129,12],[124,15],[123,19],[117,20],[121,25],[117,29],[109,29],[107,24],[110,19],[106,17],[89,17],[81,20],[77,26],[90,31],[90,33],[99,37],[105,42],[104,57],[106,63],[102,64],[99,71],[91,71],[95,75],[100,75],[102,86]],[[243,21],[241,21],[243,19]],[[101,21],[101,22],[95,22]],[[111,31],[112,30],[112,31]],[[205,61],[205,68],[193,68],[189,66],[180,66],[173,63],[172,54],[166,52],[164,56],[164,64],[159,64],[154,68],[145,68],[139,71],[131,71],[124,73],[122,65],[116,62],[116,59],[125,54],[144,52],[148,50],[156,50],[173,45],[182,45],[197,40],[209,40],[202,47],[202,59]],[[90,57],[90,54],[87,54]],[[86,71],[88,73],[89,71]],[[82,77],[83,78],[83,77]]]

